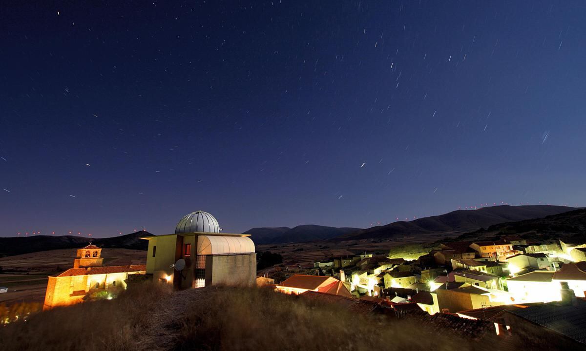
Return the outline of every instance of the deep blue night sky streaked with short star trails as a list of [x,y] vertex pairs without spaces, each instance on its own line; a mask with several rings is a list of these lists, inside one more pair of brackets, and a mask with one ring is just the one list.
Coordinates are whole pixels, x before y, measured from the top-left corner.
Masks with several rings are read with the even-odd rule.
[[0,235],[586,198],[582,1],[5,1]]

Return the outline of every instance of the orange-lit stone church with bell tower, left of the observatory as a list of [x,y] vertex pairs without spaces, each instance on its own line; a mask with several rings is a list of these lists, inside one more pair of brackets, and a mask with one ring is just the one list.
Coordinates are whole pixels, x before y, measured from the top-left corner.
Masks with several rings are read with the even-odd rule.
[[112,298],[127,285],[130,274],[145,274],[144,264],[132,266],[102,266],[101,249],[87,245],[77,250],[73,268],[57,276],[49,276],[43,309],[73,305],[92,295]]

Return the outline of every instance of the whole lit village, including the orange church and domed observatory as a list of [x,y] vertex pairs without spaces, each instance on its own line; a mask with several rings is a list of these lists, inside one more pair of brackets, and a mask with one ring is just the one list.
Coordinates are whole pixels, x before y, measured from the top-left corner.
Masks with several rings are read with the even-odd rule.
[[257,286],[353,314],[384,315],[389,323],[463,328],[466,337],[485,342],[537,328],[560,345],[584,345],[577,331],[586,315],[586,243],[516,236],[446,241],[415,260],[362,253],[285,262],[257,276],[250,236],[220,230],[207,212],[186,215],[175,233],[142,238],[148,240],[146,265],[104,266],[100,247],[82,247],[71,269],[49,277],[43,309],[112,300],[129,284],[145,281],[175,291]]

